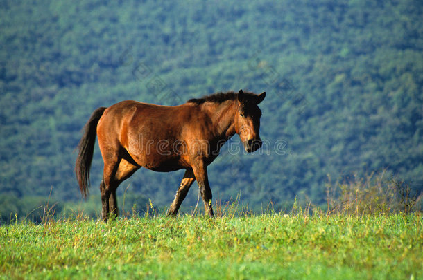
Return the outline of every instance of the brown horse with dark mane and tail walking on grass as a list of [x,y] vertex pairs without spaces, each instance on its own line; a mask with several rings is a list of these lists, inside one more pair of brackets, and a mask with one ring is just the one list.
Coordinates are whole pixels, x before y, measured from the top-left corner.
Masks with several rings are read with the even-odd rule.
[[100,184],[103,220],[107,221],[110,212],[118,215],[116,189],[140,167],[162,172],[186,169],[168,215],[178,213],[189,187],[197,180],[205,211],[214,216],[207,166],[235,133],[245,151],[261,147],[261,111],[257,105],[265,96],[241,90],[191,99],[179,106],[127,100],[96,109],[78,144],[75,171],[80,192],[87,196],[97,135],[104,161]]

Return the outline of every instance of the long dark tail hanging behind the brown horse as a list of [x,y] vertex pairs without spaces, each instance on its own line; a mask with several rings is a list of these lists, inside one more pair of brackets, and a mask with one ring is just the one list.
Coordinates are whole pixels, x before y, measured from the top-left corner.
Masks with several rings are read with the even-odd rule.
[[89,168],[91,167],[94,144],[96,144],[97,124],[105,111],[105,107],[100,107],[92,113],[85,124],[83,138],[78,144],[78,158],[76,158],[75,173],[78,180],[79,189],[84,197],[87,197],[89,187]]

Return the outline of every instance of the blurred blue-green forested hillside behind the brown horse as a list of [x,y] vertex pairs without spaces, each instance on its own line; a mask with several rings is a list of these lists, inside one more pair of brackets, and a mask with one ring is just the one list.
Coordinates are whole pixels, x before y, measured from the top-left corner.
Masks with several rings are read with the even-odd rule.
[[[328,176],[385,169],[421,192],[422,15],[411,0],[0,1],[1,216],[25,216],[50,192],[58,212],[80,200],[74,150],[98,106],[240,88],[268,93],[265,145],[225,144],[209,167],[215,198],[319,205]],[[96,149],[94,197],[102,167]],[[166,206],[182,174],[141,169],[120,192],[130,184],[131,205]]]

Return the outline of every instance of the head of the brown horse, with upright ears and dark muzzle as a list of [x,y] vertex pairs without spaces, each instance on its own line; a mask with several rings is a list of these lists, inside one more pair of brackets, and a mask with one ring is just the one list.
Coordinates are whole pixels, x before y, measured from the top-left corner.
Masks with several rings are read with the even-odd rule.
[[238,111],[235,115],[235,131],[243,142],[244,149],[248,153],[257,151],[261,147],[260,117],[261,110],[257,106],[266,97],[266,93],[259,95],[238,93]]

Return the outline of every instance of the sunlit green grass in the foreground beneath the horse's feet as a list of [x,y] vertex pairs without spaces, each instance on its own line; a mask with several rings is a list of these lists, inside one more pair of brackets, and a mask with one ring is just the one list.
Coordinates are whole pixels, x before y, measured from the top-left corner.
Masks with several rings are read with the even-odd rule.
[[2,278],[422,279],[422,216],[84,218],[0,227]]

